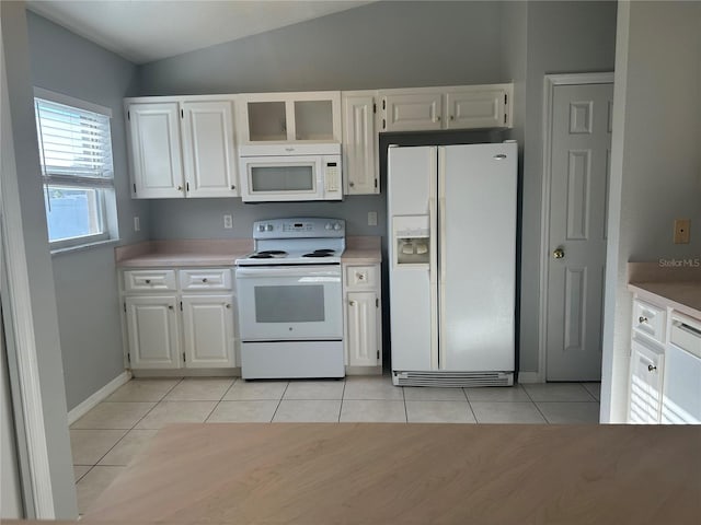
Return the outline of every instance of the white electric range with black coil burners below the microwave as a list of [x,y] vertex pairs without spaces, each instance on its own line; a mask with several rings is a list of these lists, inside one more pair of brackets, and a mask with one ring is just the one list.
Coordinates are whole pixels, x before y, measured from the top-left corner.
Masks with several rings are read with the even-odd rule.
[[343,377],[345,221],[256,221],[253,240],[235,261],[241,376]]

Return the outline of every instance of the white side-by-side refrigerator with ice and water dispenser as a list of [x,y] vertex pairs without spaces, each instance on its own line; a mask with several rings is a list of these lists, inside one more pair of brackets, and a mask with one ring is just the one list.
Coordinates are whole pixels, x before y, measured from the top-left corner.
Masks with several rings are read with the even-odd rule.
[[392,381],[512,385],[515,142],[390,147]]

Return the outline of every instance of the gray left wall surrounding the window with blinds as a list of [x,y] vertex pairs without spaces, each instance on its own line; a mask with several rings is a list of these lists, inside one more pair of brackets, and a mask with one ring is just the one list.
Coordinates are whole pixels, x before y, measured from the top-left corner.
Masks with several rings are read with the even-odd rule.
[[[136,67],[32,12],[27,22],[33,84],[112,108],[120,242],[148,238],[148,202],[129,194],[122,109],[122,100],[135,93]],[[141,219],[139,234],[134,232],[135,214]],[[114,245],[55,254],[53,270],[71,409],[124,372]]]

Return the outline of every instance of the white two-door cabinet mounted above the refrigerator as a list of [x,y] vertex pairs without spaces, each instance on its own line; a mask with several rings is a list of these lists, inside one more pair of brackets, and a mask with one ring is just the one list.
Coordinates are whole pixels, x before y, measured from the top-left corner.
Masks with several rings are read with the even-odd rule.
[[380,91],[380,131],[510,128],[514,84]]

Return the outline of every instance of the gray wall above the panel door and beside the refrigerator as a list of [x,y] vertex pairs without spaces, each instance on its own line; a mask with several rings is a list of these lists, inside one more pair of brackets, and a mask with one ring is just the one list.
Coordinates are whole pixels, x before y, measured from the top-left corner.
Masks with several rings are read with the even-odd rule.
[[538,370],[543,77],[612,71],[616,2],[529,2],[521,240],[520,370]]

